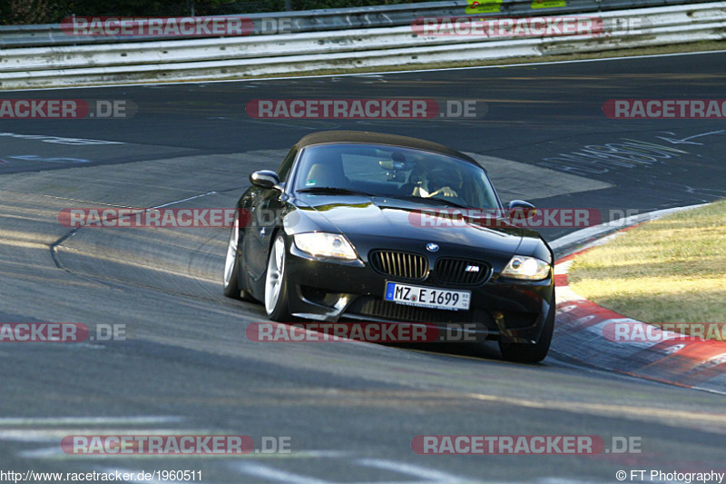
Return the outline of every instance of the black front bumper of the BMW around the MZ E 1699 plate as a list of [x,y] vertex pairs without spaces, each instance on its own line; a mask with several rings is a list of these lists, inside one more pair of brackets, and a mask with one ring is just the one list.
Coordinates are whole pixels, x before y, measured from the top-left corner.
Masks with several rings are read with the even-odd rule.
[[[554,303],[552,277],[525,282],[494,273],[486,283],[471,287],[442,284],[431,277],[412,282],[375,272],[360,261],[320,261],[294,243],[289,244],[286,272],[290,311],[317,321],[407,321],[440,327],[474,323],[477,339],[531,343],[539,339]],[[447,311],[384,301],[387,281],[471,291],[471,306],[468,311]]]

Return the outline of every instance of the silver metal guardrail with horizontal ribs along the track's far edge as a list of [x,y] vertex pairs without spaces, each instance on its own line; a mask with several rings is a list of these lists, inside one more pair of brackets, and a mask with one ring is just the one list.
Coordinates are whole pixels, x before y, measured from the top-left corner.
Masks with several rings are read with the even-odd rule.
[[[417,35],[411,25],[285,35],[7,49],[0,88],[231,79],[325,69],[600,52],[726,38],[726,2],[605,12],[602,35]],[[638,22],[634,22],[634,20]],[[628,25],[623,30],[620,25]]]

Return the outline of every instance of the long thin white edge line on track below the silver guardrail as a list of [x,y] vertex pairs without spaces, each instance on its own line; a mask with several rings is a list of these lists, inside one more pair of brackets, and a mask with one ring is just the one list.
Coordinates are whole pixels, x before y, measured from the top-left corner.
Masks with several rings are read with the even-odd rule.
[[6,93],[24,92],[24,91],[60,91],[66,89],[98,89],[104,87],[164,87],[166,85],[175,84],[217,84],[217,83],[259,83],[261,81],[288,81],[290,79],[319,79],[327,77],[367,77],[371,75],[383,75],[383,74],[417,74],[417,73],[430,73],[439,71],[470,71],[472,69],[499,69],[503,67],[524,67],[527,65],[555,65],[555,64],[576,64],[576,63],[587,63],[587,62],[606,62],[606,61],[620,61],[623,59],[647,59],[647,58],[658,58],[658,57],[675,57],[681,55],[701,55],[701,54],[724,54],[726,51],[701,51],[701,52],[678,52],[672,54],[651,54],[651,55],[621,55],[614,57],[605,57],[603,59],[575,59],[572,61],[556,61],[556,62],[534,62],[525,64],[499,64],[499,65],[475,65],[472,67],[446,67],[444,69],[413,69],[410,71],[381,71],[378,73],[352,73],[352,74],[319,74],[319,75],[297,75],[289,77],[251,77],[249,79],[226,79],[221,81],[177,81],[172,83],[137,83],[137,84],[107,84],[107,85],[77,85],[70,87],[40,87],[34,89],[7,89]]

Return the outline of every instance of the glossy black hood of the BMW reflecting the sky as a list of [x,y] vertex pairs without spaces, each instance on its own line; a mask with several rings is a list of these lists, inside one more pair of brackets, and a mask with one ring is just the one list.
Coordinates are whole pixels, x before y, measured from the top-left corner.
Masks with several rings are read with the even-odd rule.
[[[525,237],[539,239],[536,232],[502,223],[482,224],[477,219],[446,216],[456,208],[408,202],[386,197],[355,195],[299,195],[299,210],[309,219],[308,230],[344,233],[350,242],[358,238],[409,239],[478,248],[487,252],[514,254]],[[444,213],[437,216],[434,213]],[[456,220],[456,222],[455,222]],[[309,224],[309,222],[314,222]],[[486,225],[486,226],[484,226]],[[302,232],[302,231],[296,231]]]

